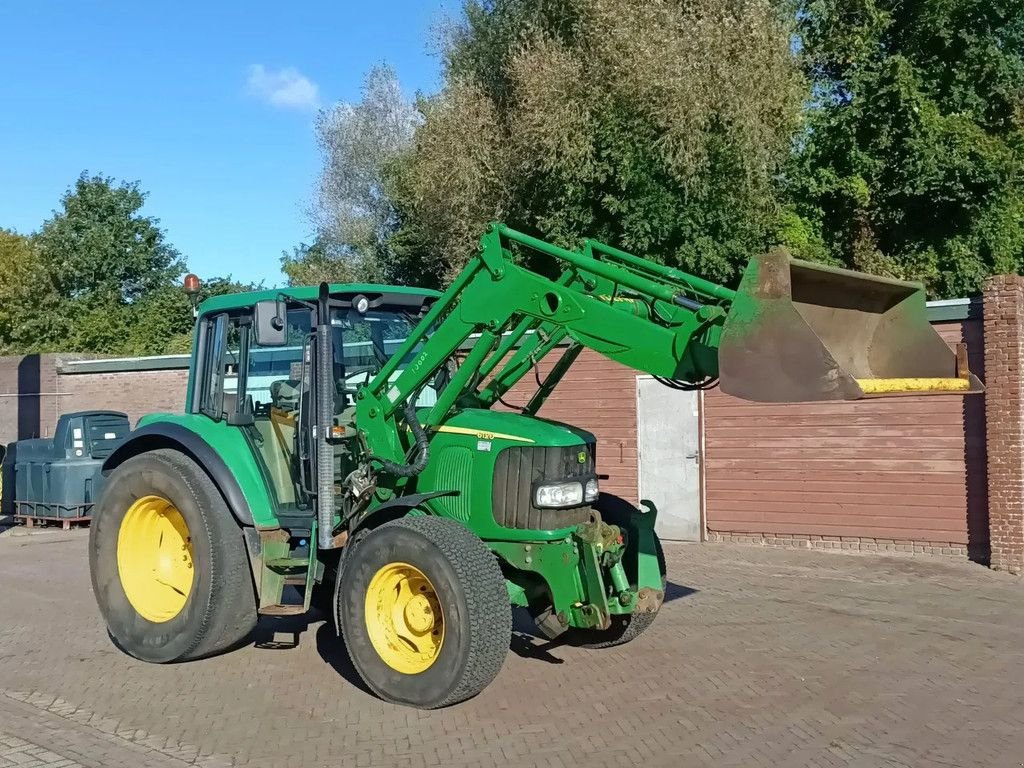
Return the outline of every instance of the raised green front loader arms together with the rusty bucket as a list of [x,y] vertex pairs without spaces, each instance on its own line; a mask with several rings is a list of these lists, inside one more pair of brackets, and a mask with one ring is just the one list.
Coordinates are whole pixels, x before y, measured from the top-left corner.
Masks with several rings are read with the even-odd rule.
[[[516,258],[524,250],[550,257],[560,275],[524,266]],[[477,254],[360,390],[359,430],[375,456],[401,461],[403,408],[447,360],[461,355],[421,416],[428,430],[456,406],[490,408],[566,342],[526,413],[583,347],[684,388],[721,376],[723,390],[752,400],[981,389],[928,324],[918,284],[774,252],[752,259],[732,291],[596,241],[570,251],[490,224]]]

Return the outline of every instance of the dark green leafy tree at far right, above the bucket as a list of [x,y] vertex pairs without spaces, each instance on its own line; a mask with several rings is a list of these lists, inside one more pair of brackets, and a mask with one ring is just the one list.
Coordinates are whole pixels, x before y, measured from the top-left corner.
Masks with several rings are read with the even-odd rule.
[[787,188],[839,261],[977,292],[1024,267],[1024,6],[804,0],[814,101]]

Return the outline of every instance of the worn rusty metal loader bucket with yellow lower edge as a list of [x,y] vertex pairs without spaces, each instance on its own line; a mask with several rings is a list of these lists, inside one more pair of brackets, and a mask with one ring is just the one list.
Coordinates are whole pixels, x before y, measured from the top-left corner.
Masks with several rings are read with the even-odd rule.
[[928,322],[923,286],[784,251],[748,265],[719,368],[722,391],[760,402],[982,391]]

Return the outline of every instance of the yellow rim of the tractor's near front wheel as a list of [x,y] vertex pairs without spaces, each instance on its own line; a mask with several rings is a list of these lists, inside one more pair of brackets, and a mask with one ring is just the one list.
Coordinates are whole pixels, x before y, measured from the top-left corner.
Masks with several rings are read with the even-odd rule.
[[384,664],[416,675],[430,669],[444,642],[444,614],[430,580],[415,565],[393,562],[367,588],[367,631]]

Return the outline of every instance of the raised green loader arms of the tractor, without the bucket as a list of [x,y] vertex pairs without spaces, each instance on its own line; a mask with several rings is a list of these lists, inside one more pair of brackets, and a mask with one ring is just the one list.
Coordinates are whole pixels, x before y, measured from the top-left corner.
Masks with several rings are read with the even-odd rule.
[[[551,280],[516,263],[516,246],[564,264],[561,276]],[[464,355],[461,365],[422,418],[428,430],[458,402],[483,408],[497,402],[565,340],[573,345],[571,354],[586,346],[666,379],[714,378],[726,311],[718,304],[700,304],[693,293],[671,278],[493,224],[478,254],[360,391],[359,429],[375,456],[400,461],[407,445],[397,420],[404,403],[457,353]],[[409,362],[395,377],[403,359]],[[490,383],[477,391],[496,369]],[[551,387],[556,383],[550,382]]]

